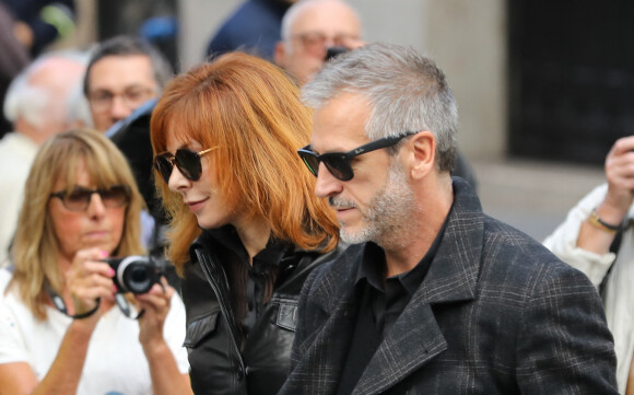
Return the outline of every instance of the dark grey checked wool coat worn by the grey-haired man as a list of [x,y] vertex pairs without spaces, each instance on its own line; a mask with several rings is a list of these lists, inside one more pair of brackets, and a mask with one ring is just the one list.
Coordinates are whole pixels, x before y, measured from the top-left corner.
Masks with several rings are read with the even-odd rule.
[[[612,336],[587,277],[485,216],[460,178],[454,194],[425,279],[353,394],[617,394]],[[337,393],[364,246],[349,247],[305,282],[280,394]]]

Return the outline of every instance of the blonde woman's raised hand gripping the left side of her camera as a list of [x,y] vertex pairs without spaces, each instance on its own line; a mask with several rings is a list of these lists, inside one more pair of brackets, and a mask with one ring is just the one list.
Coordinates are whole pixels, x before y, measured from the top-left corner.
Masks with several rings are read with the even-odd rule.
[[80,249],[66,274],[68,290],[74,302],[74,312],[80,315],[93,310],[97,300],[113,301],[117,289],[113,282],[115,270],[104,259],[107,252],[99,248]]

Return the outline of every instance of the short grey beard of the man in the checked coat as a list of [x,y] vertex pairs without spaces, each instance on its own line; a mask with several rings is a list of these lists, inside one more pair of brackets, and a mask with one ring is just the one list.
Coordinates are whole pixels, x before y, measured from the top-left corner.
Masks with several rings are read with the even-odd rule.
[[352,232],[342,226],[341,240],[350,244],[375,242],[383,248],[396,248],[414,236],[408,233],[408,228],[414,221],[412,214],[415,207],[414,193],[408,185],[406,171],[400,162],[394,160],[384,188],[362,212],[363,228]]

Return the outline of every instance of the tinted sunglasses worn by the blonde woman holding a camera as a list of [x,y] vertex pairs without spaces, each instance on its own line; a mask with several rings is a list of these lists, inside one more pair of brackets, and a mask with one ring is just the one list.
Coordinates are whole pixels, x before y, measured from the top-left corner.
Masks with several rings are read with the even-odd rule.
[[91,205],[94,194],[99,195],[102,202],[106,208],[117,208],[127,206],[130,202],[130,187],[127,185],[114,185],[107,189],[87,189],[75,186],[70,193],[60,190],[50,194],[49,197],[59,198],[70,211],[85,211]]

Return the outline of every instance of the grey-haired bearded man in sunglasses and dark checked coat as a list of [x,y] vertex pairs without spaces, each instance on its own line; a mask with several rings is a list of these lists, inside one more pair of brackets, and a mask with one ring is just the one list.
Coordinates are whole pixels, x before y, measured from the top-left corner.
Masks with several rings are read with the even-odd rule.
[[298,153],[351,246],[304,283],[281,394],[618,393],[588,278],[451,177],[457,105],[432,60],[372,44],[303,94]]

